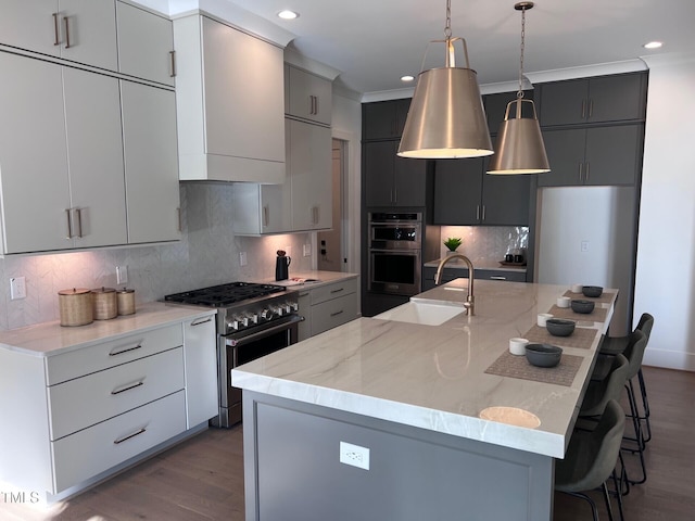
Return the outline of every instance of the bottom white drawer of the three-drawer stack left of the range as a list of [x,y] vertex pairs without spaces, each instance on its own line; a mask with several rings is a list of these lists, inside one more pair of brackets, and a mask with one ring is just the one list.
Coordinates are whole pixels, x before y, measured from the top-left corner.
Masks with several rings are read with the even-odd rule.
[[186,430],[184,391],[51,443],[54,494]]

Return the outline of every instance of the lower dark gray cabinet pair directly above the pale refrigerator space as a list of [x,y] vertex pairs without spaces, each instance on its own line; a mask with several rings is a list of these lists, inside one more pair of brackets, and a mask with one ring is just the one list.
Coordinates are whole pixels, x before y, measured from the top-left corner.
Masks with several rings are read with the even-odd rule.
[[642,168],[644,126],[544,130],[552,171],[539,175],[539,187],[636,183]]

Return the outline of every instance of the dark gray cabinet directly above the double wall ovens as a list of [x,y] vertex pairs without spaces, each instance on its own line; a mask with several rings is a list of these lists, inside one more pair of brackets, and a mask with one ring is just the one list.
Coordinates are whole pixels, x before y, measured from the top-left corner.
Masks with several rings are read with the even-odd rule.
[[367,206],[425,206],[427,162],[399,157],[397,141],[364,143]]

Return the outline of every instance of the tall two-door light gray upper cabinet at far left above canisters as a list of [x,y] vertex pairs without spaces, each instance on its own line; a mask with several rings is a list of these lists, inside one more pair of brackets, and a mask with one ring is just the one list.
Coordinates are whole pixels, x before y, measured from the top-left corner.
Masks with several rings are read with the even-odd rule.
[[0,53],[3,253],[124,243],[118,82]]

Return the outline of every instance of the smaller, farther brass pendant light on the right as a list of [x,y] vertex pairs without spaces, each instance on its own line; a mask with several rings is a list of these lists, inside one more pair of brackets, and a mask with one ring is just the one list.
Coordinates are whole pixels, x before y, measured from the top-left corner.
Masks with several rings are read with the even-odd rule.
[[[526,12],[533,2],[519,2],[514,9],[521,11],[521,59],[519,60],[519,91],[517,99],[507,104],[504,122],[497,132],[495,155],[490,161],[488,174],[541,174],[551,171],[545,154],[541,126],[532,100],[523,99],[523,46],[526,37]],[[530,105],[532,117],[523,117],[523,103]],[[511,105],[516,104],[514,116],[509,118]]]

